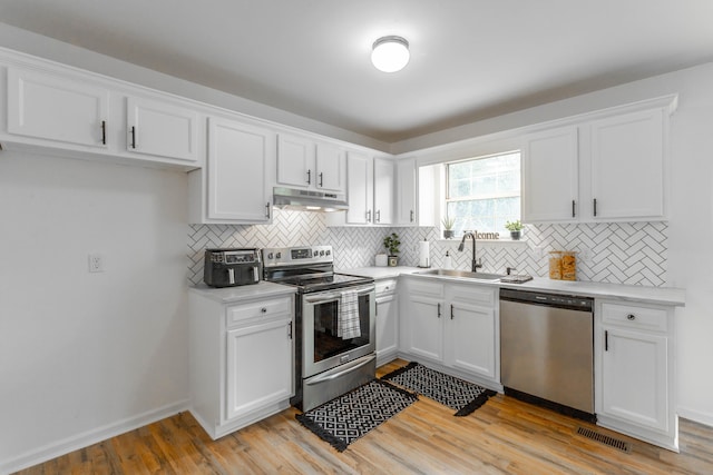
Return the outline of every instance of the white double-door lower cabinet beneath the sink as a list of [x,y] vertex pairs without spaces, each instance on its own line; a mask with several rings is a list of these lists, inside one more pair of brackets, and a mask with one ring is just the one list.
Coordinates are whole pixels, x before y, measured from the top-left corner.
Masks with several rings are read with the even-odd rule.
[[404,287],[401,353],[498,386],[497,287],[418,277]]

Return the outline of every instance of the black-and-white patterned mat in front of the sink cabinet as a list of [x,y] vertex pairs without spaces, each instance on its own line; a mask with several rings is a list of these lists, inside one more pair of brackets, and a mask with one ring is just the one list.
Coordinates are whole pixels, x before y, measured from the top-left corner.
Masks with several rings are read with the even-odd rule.
[[416,362],[382,376],[381,379],[456,409],[453,415],[458,417],[467,416],[496,395],[492,389],[427,368]]

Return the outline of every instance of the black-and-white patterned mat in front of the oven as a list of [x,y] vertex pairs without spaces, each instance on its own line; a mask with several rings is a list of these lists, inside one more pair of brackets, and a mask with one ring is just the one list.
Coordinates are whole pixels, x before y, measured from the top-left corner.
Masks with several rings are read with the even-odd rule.
[[373,379],[295,417],[339,452],[418,399],[416,394]]

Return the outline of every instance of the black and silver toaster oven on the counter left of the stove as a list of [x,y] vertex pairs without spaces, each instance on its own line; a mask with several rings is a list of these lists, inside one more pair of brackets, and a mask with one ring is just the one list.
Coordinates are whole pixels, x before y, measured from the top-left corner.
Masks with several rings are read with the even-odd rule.
[[203,280],[211,287],[257,284],[262,267],[255,248],[206,249]]

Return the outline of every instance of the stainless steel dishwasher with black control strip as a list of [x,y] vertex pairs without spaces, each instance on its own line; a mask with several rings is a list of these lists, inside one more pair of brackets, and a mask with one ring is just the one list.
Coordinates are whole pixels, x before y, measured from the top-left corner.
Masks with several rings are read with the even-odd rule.
[[587,297],[500,289],[505,394],[596,420],[593,304]]

